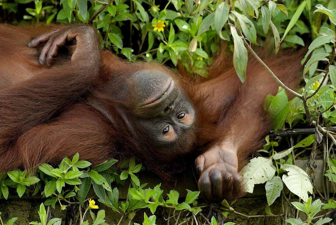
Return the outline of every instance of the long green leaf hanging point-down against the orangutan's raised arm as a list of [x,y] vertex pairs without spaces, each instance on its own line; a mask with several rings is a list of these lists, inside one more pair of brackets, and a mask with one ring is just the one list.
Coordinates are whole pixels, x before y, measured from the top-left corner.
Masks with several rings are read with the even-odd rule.
[[244,84],[246,78],[247,49],[245,48],[244,42],[238,35],[236,29],[230,26],[230,30],[234,40],[233,64],[238,78],[242,84]]

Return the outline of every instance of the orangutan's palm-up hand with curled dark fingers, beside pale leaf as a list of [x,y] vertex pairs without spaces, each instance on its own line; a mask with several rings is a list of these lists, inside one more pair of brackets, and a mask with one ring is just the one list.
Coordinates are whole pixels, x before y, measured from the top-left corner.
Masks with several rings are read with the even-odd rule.
[[231,202],[245,194],[242,176],[238,173],[238,158],[233,150],[214,145],[195,161],[200,174],[198,187],[208,201],[224,198]]

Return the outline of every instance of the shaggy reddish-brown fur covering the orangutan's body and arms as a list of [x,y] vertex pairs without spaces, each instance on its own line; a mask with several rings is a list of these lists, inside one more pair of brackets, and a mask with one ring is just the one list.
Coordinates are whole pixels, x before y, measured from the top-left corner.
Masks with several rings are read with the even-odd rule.
[[[134,155],[169,181],[173,172],[180,170],[176,166],[184,165],[185,159],[176,160],[176,156],[190,153],[185,146],[192,146],[199,154],[216,142],[235,143],[239,170],[248,156],[262,146],[270,129],[263,101],[267,94],[276,94],[279,85],[251,56],[244,85],[225,50],[209,68],[211,79],[198,83],[161,64],[125,62],[108,51],[96,56],[98,62],[101,57],[101,64],[93,67],[86,66],[92,65],[88,63],[90,59],[81,59],[66,64],[56,61],[46,69],[37,63],[38,50],[26,45],[52,29],[0,25],[0,82],[3,82],[0,83],[0,170],[56,163],[76,152],[93,164]],[[301,51],[281,52],[264,59],[283,83],[294,88],[298,82],[295,75],[302,70],[301,55]],[[141,141],[146,140],[144,134],[140,132],[140,138],[134,139],[123,126],[121,115],[130,112],[120,102],[120,87],[134,72],[148,68],[178,77],[180,87],[196,110],[195,134],[185,146],[172,149],[170,156],[174,161],[167,160],[169,157],[160,149],[152,149],[150,143]],[[82,96],[87,93],[94,99],[91,104],[108,109],[115,123],[111,124],[86,103]],[[227,199],[243,193],[239,183]]]

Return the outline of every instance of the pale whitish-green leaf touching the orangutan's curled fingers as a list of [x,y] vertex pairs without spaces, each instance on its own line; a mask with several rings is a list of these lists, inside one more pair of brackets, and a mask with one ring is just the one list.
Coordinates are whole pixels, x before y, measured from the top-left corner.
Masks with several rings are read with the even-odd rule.
[[253,158],[242,169],[243,181],[246,184],[246,192],[252,193],[255,184],[261,184],[271,180],[276,169],[271,159],[263,157]]

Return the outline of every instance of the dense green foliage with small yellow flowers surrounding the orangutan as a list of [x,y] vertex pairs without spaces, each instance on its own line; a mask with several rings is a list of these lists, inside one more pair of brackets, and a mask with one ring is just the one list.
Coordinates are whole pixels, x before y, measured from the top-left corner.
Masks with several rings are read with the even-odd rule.
[[[309,224],[323,205],[321,200],[312,202],[311,197],[308,197],[308,192],[313,192],[311,181],[314,179],[315,157],[319,146],[323,148],[321,155],[328,178],[323,190],[325,195],[321,197],[327,203],[331,187],[329,181],[336,181],[336,160],[331,152],[336,140],[325,128],[336,123],[335,0],[201,0],[198,3],[193,0],[0,0],[0,6],[0,21],[12,24],[41,26],[40,23],[54,22],[91,23],[102,38],[102,48],[111,49],[129,61],[146,59],[171,67],[179,65],[191,76],[197,74],[207,77],[207,67],[218,46],[225,41],[227,51],[233,54],[233,63],[242,83],[246,78],[248,51],[253,54],[251,44],[253,49],[262,45],[274,46],[273,51],[277,53],[282,48],[299,48],[310,43],[302,60],[305,65],[303,88],[296,91],[280,85],[276,96],[267,96],[264,108],[273,119],[273,130],[312,125],[312,134],[303,134],[296,139],[288,137],[290,148],[281,152],[277,152],[278,148],[286,148],[285,141],[274,137],[272,140],[267,136],[264,149],[255,154],[258,157],[253,158],[242,173],[248,192],[253,191],[255,184],[266,183],[268,206],[278,197],[287,200],[293,197],[292,193],[297,195],[304,203],[292,204],[297,210],[305,212]],[[272,74],[270,70],[269,73]],[[289,100],[285,90],[296,97]],[[296,149],[302,150],[302,147],[305,149],[295,154]],[[308,174],[295,164],[297,156],[307,149],[311,149]],[[134,159],[122,163],[119,169],[113,166],[115,163],[111,159],[90,167],[89,162],[79,161],[79,155],[75,155],[72,160],[64,159],[57,167],[43,164],[34,175],[20,170],[1,173],[0,197],[2,195],[7,199],[10,189],[16,189],[20,197],[25,193],[42,194],[45,201],[38,212],[41,222],[32,224],[60,224],[59,219],[47,223],[44,206],[49,209],[59,204],[65,210],[67,206],[77,203],[78,212],[83,208],[84,214],[90,212],[94,225],[106,224],[103,210],[97,215],[91,211],[96,208],[94,201],[86,196],[91,187],[99,203],[120,213],[119,223],[124,216],[132,221],[141,208],[149,208],[152,214],[158,207],[181,211],[184,218],[182,220],[181,217],[179,223],[191,223],[202,218],[199,216],[202,208],[196,200],[199,192],[188,190],[183,201],[175,190],[164,197],[160,185],[144,189],[146,185],[140,184],[135,174],[142,166],[135,165]],[[112,187],[124,184],[128,177],[131,184],[128,198],[120,202],[118,189]],[[291,193],[283,191],[283,184]],[[271,216],[273,214],[268,206],[265,213]],[[225,200],[215,207],[222,210],[224,217],[229,212],[235,212]],[[336,208],[336,201],[329,198],[322,208]],[[287,209],[283,207],[280,216],[287,219],[287,214]],[[290,214],[290,217],[295,215]],[[77,213],[74,218],[72,224],[88,224],[82,214]],[[8,221],[7,225],[14,221]],[[286,221],[290,224],[305,224],[297,217]],[[320,219],[315,224],[328,221]],[[214,217],[205,222],[217,224]],[[148,217],[144,214],[143,225],[149,224],[155,224],[155,215]]]

